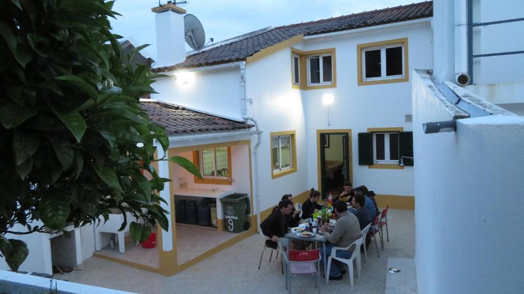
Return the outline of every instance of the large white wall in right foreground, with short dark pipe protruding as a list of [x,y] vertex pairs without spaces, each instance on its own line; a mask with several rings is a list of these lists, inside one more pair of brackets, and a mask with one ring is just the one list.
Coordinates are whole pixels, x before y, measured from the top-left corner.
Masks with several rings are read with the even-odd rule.
[[[433,88],[433,91],[437,91]],[[413,123],[450,120],[413,73]],[[457,120],[456,132],[413,130],[419,293],[520,293],[524,119]]]

